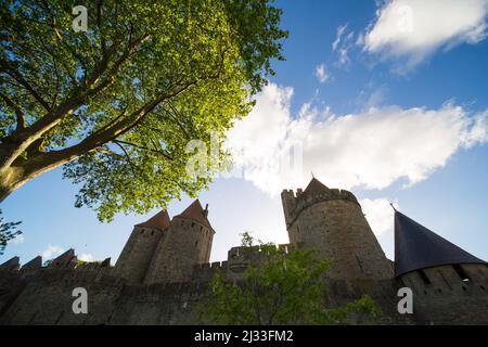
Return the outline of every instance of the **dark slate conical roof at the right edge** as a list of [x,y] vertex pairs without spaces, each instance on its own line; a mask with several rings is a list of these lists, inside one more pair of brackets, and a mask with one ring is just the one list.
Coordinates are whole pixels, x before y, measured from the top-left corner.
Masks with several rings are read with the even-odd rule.
[[395,210],[395,277],[455,264],[487,262]]

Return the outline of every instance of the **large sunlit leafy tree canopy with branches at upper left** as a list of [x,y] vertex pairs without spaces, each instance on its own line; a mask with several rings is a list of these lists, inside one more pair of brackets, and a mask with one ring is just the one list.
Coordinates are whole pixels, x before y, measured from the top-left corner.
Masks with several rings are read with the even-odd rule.
[[[223,139],[282,60],[281,10],[264,0],[11,0],[0,9],[0,201],[64,165],[76,206],[101,220],[208,185],[185,166]],[[221,141],[221,140],[220,140]]]

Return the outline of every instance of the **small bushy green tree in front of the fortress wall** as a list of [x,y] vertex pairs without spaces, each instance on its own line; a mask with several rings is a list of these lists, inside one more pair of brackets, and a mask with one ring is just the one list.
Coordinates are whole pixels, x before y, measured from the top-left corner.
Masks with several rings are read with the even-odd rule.
[[316,252],[286,253],[274,244],[243,234],[247,262],[243,281],[233,282],[218,272],[209,283],[208,299],[200,308],[202,319],[217,324],[373,324],[381,314],[364,295],[339,308],[326,305],[324,273],[329,261]]

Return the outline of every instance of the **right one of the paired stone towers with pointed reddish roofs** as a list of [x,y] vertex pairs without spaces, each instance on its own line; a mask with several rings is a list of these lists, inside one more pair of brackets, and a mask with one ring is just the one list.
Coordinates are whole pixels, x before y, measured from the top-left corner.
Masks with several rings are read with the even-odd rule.
[[154,254],[145,283],[183,282],[191,279],[194,265],[208,262],[215,231],[208,210],[195,200],[181,215],[175,216],[168,234]]

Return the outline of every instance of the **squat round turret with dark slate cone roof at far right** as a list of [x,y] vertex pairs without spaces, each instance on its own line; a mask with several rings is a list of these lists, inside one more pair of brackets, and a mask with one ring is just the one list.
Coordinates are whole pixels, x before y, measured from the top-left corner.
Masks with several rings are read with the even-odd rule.
[[[395,210],[395,277],[413,293],[413,311],[428,321],[459,317],[488,322],[487,262]],[[455,309],[453,309],[455,308]]]

